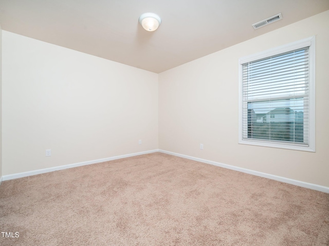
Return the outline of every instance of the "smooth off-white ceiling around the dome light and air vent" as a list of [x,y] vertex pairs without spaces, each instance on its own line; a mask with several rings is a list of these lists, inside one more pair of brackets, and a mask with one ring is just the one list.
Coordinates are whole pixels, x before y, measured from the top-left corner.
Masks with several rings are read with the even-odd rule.
[[[329,9],[329,0],[0,0],[3,30],[155,73]],[[155,32],[138,22],[158,14]],[[258,30],[252,24],[282,13]]]

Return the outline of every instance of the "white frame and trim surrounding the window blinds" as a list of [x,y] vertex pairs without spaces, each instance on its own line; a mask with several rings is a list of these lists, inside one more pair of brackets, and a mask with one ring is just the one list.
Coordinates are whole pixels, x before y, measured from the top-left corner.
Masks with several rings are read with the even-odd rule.
[[[287,45],[279,46],[273,49],[262,51],[256,54],[251,54],[239,59],[239,144],[263,146],[271,148],[289,149],[289,150],[300,150],[315,152],[315,36],[308,37],[297,42],[289,43]],[[277,143],[269,142],[266,140],[257,139],[243,139],[243,72],[242,65],[251,61],[267,58],[273,55],[279,55],[285,52],[309,47],[309,81],[308,81],[308,93],[309,93],[309,116],[308,116],[308,146],[301,146],[296,143]]]

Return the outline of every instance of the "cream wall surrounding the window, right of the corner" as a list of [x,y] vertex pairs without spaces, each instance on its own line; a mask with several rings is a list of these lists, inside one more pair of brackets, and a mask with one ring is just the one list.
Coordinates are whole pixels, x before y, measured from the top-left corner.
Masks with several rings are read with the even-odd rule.
[[[329,187],[328,23],[326,11],[160,73],[159,149]],[[316,153],[239,145],[239,58],[313,35]]]

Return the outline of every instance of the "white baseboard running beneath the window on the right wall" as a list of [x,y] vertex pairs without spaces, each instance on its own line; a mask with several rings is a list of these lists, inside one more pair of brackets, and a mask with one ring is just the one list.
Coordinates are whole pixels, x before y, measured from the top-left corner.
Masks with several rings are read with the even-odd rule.
[[272,174],[253,171],[250,169],[234,167],[234,166],[230,166],[230,165],[223,164],[220,162],[205,160],[205,159],[188,156],[188,155],[177,154],[177,153],[170,152],[170,151],[159,150],[159,152],[169,154],[169,155],[175,155],[175,156],[190,159],[190,160],[204,162],[204,163],[211,164],[214,166],[227,168],[227,169],[231,169],[231,170],[239,171],[239,172],[243,172],[243,173],[248,173],[248,174],[252,174],[255,176],[260,176],[260,177],[269,178],[269,179],[273,179],[273,180],[277,180],[277,181],[281,181],[281,182],[285,182],[285,183],[290,183],[291,185],[295,185],[295,186],[300,186],[300,187],[304,187],[304,188],[308,188],[308,189],[312,189],[312,190],[329,193],[329,187],[315,185],[314,183],[307,183],[307,182],[303,182],[303,181],[299,181],[299,180],[295,180],[295,179],[290,179],[290,178],[280,177],[280,176],[276,176],[276,175],[272,175]]

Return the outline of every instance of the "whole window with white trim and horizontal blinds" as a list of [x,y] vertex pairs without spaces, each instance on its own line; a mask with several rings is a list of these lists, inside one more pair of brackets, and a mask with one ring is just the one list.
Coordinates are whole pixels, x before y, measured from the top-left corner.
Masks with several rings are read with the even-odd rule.
[[315,152],[315,37],[239,61],[239,143]]

